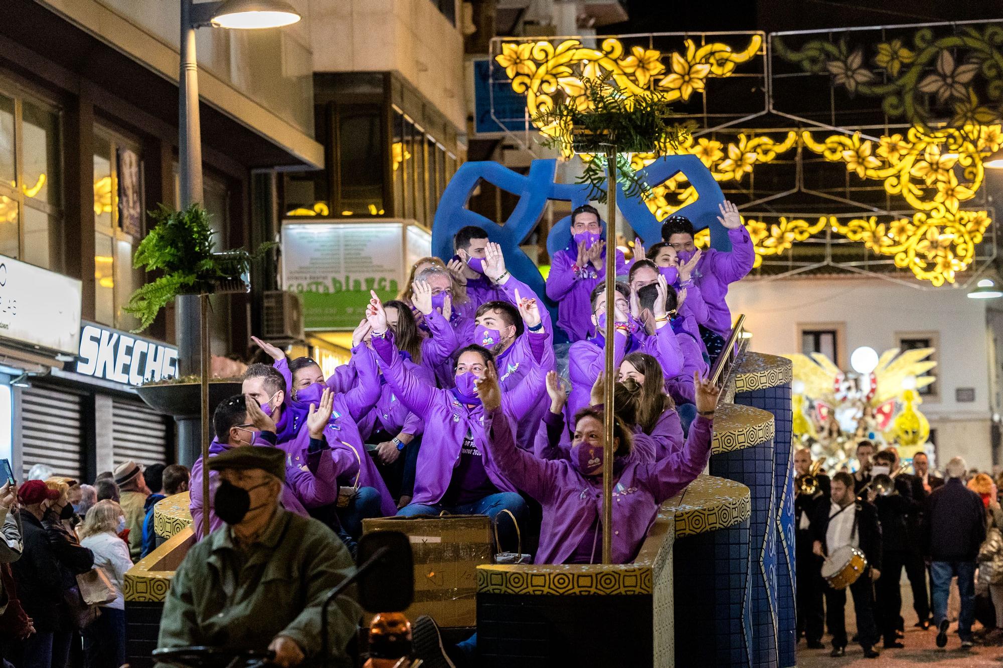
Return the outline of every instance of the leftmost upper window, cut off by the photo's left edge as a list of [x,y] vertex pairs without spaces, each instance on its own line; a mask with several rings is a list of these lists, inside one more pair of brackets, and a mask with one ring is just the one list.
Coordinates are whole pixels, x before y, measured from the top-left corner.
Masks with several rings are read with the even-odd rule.
[[59,113],[0,93],[0,254],[62,269],[60,174]]

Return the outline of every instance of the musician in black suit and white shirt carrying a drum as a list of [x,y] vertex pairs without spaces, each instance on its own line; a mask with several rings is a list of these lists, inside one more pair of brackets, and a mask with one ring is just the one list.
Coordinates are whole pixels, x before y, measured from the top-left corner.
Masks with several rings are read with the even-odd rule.
[[[878,512],[867,500],[857,499],[854,492],[854,476],[840,471],[830,482],[831,503],[818,504],[811,520],[814,536],[812,552],[825,557],[840,548],[853,546],[860,549],[868,560],[865,572],[850,586],[854,596],[854,611],[857,613],[858,642],[864,648],[864,656],[877,658],[881,653],[875,649],[878,629],[875,626],[874,592],[872,585],[881,576],[881,527]],[[855,503],[856,502],[856,503]],[[829,656],[847,655],[847,592],[843,589],[825,588],[825,612],[829,633],[832,634],[832,652]]]

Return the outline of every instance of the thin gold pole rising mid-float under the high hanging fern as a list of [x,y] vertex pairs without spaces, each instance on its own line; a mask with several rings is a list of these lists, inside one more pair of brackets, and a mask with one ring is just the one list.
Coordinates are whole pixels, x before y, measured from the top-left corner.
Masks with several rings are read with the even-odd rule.
[[613,383],[616,360],[613,333],[616,331],[617,284],[617,149],[606,149],[606,447],[603,452],[603,563],[613,563]]

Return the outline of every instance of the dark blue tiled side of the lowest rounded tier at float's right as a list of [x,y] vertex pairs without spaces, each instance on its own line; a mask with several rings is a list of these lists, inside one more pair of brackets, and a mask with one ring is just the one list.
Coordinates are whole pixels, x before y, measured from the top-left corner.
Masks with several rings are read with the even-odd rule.
[[677,666],[751,666],[749,521],[687,536],[672,553]]

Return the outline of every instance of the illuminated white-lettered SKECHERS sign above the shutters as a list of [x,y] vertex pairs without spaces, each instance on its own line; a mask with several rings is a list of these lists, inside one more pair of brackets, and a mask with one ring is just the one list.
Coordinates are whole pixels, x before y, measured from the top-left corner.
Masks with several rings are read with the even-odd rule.
[[116,329],[85,323],[75,371],[123,385],[178,375],[178,349]]

